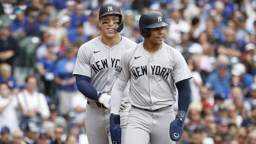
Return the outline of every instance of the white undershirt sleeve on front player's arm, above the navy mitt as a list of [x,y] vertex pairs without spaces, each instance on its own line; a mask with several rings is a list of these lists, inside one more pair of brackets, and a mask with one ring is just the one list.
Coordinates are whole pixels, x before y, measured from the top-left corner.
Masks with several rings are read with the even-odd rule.
[[122,81],[119,78],[116,78],[114,82],[114,86],[111,92],[111,99],[110,99],[110,111],[113,114],[119,113],[119,108],[121,106],[122,98],[123,98],[123,91],[124,91],[124,88],[126,87],[126,84],[127,82]]

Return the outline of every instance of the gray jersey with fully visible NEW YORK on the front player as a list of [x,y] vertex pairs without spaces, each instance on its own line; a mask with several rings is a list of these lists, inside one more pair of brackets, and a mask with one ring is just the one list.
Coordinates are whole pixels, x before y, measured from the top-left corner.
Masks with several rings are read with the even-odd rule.
[[132,105],[152,111],[174,104],[175,83],[192,78],[178,50],[162,43],[162,48],[151,54],[143,48],[143,42],[124,53],[114,75],[123,81],[130,79]]

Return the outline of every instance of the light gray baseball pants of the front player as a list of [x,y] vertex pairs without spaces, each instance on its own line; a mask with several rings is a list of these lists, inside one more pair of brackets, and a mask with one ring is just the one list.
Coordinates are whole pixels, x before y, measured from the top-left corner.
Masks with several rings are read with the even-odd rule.
[[175,119],[174,108],[150,112],[130,108],[124,144],[175,144],[170,138],[170,123]]

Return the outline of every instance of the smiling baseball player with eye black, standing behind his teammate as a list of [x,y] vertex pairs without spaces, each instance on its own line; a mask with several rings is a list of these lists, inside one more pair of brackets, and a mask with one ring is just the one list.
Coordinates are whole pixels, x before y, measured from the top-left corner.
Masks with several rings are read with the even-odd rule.
[[[76,76],[78,90],[88,99],[85,127],[89,143],[111,144],[109,102],[116,78],[113,72],[124,51],[136,43],[119,35],[118,32],[123,29],[123,17],[116,4],[102,5],[98,22],[102,35],[79,48],[73,75]],[[130,108],[130,104],[127,103],[128,90],[129,85],[123,94],[123,103],[120,108],[123,112],[119,113],[123,136]]]

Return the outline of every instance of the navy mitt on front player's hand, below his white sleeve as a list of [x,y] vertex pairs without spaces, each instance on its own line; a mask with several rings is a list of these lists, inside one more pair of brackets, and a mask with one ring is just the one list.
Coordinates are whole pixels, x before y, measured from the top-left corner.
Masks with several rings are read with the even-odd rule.
[[110,114],[110,136],[112,144],[121,144],[122,129],[120,127],[120,116]]

